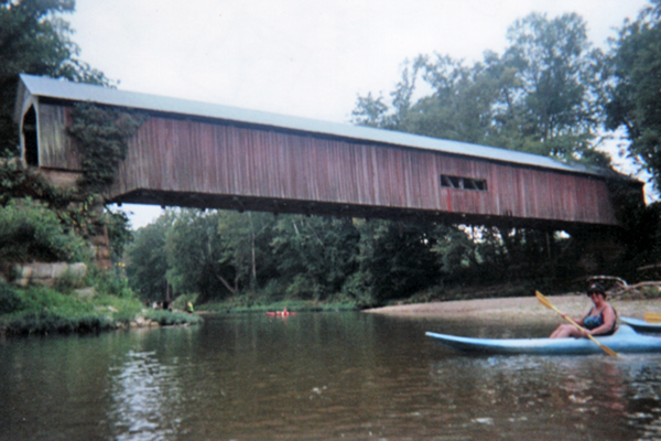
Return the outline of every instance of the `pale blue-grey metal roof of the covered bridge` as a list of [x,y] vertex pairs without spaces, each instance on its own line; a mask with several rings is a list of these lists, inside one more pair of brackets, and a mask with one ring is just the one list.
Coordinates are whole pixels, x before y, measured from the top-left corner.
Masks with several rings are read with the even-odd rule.
[[[21,74],[20,77],[23,87],[32,96],[72,101],[91,101],[101,105],[176,114],[182,116],[223,119],[242,123],[270,126],[280,129],[379,142],[412,149],[433,150],[443,153],[474,157],[543,169],[554,169],[564,172],[602,174],[598,170],[587,168],[583,164],[566,164],[549,157],[524,153],[514,150],[430,138],[392,130],[375,129],[364,126],[325,122],[315,119],[241,109],[210,103],[192,101],[180,98],[126,92],[110,87],[73,83],[51,77],[41,77],[26,74]],[[22,97],[19,96],[18,99],[19,103],[21,103],[20,100]],[[20,109],[17,110],[21,111]],[[17,118],[19,118],[18,115]]]

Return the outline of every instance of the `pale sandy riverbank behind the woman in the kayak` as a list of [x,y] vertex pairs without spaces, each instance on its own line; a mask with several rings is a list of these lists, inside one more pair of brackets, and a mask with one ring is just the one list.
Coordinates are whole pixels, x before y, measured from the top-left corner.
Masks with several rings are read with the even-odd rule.
[[[582,316],[592,305],[585,295],[549,295],[555,308],[570,316]],[[661,299],[622,300],[610,299],[618,314],[642,319],[646,312],[661,312]],[[452,302],[432,302],[366,310],[368,313],[388,314],[403,318],[436,318],[454,320],[485,320],[490,322],[559,322],[560,315],[544,308],[535,297],[458,300]]]

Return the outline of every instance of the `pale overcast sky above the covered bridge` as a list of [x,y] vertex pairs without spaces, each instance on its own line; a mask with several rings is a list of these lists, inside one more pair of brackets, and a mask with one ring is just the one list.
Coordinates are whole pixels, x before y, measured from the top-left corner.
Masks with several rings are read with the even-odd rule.
[[[124,90],[348,122],[419,54],[481,60],[531,12],[576,12],[606,47],[646,0],[77,0],[80,57]],[[124,205],[127,207],[127,205]],[[158,207],[130,206],[133,227]]]

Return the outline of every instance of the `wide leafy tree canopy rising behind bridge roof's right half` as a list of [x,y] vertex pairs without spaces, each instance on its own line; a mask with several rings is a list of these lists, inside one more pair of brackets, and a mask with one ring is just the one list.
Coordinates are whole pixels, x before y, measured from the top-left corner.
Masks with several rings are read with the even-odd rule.
[[[532,13],[508,30],[502,56],[466,66],[442,55],[405,62],[391,103],[359,97],[354,122],[608,165],[594,149],[604,56],[576,14]],[[413,100],[416,84],[431,94]]]

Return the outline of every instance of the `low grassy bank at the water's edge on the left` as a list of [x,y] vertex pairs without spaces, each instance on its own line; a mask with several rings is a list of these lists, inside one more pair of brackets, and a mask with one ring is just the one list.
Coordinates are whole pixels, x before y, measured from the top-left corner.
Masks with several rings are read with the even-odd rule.
[[0,282],[0,333],[11,335],[89,333],[136,325],[195,324],[184,312],[145,309],[121,282],[99,279],[85,290]]

